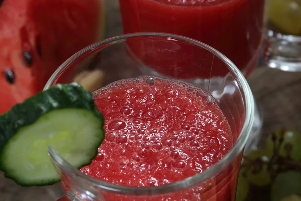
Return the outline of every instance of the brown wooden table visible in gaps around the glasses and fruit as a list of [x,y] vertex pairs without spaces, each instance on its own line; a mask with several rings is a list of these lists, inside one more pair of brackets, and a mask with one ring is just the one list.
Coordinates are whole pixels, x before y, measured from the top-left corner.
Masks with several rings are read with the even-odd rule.
[[[121,34],[118,1],[107,1],[107,9],[107,37]],[[263,114],[263,138],[279,127],[301,131],[301,73],[262,67],[248,77],[248,82]],[[54,201],[61,193],[59,184],[23,188],[0,173],[0,201]]]

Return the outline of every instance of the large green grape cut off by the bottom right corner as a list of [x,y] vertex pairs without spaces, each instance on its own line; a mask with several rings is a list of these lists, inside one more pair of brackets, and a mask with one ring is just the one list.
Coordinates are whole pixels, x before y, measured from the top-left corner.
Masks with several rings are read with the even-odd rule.
[[271,200],[281,201],[290,195],[297,195],[301,190],[301,172],[285,171],[277,175],[271,187]]

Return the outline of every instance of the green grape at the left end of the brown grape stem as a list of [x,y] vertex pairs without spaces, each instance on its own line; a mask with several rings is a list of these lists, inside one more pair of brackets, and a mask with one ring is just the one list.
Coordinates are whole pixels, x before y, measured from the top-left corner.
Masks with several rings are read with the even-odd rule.
[[[245,172],[247,180],[256,186],[267,186],[271,183],[271,176],[264,162],[269,161],[270,155],[266,150],[251,150],[243,161],[242,171]],[[255,162],[257,161],[257,162]],[[263,161],[263,162],[260,162]],[[247,168],[248,164],[253,164]]]

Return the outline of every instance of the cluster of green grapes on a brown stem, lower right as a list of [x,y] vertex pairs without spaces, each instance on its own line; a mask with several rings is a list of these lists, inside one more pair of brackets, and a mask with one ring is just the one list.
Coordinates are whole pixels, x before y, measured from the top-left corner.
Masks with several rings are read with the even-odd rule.
[[280,129],[264,148],[249,151],[241,165],[236,200],[260,192],[271,201],[301,201],[301,133]]

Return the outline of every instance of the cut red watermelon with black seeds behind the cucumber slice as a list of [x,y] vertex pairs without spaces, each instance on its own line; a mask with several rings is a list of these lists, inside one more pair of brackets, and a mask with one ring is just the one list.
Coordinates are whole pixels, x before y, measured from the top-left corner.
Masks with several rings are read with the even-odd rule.
[[102,0],[3,0],[0,114],[41,91],[66,59],[100,40],[102,14]]

